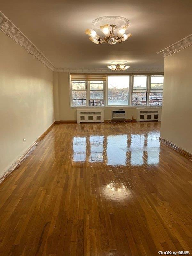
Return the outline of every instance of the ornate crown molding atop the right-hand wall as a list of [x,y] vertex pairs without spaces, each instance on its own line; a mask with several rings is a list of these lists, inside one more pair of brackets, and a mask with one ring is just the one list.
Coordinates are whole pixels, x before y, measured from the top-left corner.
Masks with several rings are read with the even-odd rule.
[[175,44],[172,44],[169,47],[157,53],[162,55],[163,57],[167,57],[175,52],[179,52],[180,50],[187,48],[190,45],[192,45],[192,34],[189,36],[186,36],[185,38],[181,39]]

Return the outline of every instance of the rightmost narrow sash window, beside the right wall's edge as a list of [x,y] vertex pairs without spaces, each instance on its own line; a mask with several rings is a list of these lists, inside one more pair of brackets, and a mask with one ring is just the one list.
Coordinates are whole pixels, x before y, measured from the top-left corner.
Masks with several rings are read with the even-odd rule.
[[151,76],[149,106],[161,106],[163,99],[163,76]]

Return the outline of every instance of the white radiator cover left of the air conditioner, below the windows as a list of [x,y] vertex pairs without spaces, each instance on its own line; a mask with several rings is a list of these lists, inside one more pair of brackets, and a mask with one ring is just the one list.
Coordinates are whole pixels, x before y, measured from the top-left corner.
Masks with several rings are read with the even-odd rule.
[[77,123],[84,122],[104,123],[104,109],[77,109]]

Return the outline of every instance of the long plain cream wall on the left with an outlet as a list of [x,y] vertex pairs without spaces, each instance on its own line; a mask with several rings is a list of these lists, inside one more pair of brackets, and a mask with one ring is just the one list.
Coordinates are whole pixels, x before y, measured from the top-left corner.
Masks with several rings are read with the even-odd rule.
[[0,42],[1,176],[54,117],[53,72],[2,31]]

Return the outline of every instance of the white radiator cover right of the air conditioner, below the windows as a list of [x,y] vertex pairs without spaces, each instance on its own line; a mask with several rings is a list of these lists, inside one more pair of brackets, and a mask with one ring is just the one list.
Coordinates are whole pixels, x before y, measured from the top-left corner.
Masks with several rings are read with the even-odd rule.
[[161,108],[137,108],[137,122],[161,121]]

